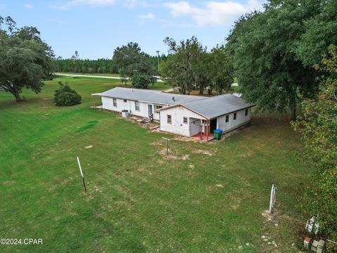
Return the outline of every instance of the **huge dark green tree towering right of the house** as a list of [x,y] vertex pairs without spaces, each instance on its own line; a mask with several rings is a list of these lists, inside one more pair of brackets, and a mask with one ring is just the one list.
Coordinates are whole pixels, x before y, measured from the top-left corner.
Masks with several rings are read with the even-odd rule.
[[[323,37],[330,34],[335,40],[336,32],[327,29],[323,36],[320,32],[324,43],[315,37],[308,42],[307,38],[313,35],[310,29],[319,27],[318,21],[315,29],[310,24],[324,20],[324,15],[331,20],[328,27],[336,25],[336,8],[334,13],[327,8],[331,5],[336,1],[274,0],[265,5],[263,13],[250,13],[235,24],[226,47],[234,58],[235,74],[246,100],[262,110],[284,112],[290,108],[294,118],[298,102],[315,96],[319,72],[311,64],[314,59],[322,60],[326,52],[326,42],[331,39]],[[310,53],[316,46],[319,50]]]

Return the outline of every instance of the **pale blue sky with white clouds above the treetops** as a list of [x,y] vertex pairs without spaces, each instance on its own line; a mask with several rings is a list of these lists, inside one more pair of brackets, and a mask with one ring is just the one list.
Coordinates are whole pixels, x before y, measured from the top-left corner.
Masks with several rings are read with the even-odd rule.
[[163,40],[195,35],[209,50],[223,44],[235,20],[263,10],[266,0],[0,0],[0,15],[18,27],[34,26],[55,56],[112,58],[117,46],[137,42],[143,51],[167,53]]

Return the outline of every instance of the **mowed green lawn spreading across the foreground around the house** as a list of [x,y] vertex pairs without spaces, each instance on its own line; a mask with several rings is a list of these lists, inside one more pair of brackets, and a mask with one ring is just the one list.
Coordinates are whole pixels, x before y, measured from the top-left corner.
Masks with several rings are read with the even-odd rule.
[[[53,105],[59,80],[81,105]],[[55,79],[38,95],[25,91],[22,103],[0,91],[0,235],[43,239],[1,252],[296,252],[305,167],[285,120],[255,116],[218,142],[173,140],[171,154],[188,159],[167,159],[159,154],[167,135],[90,108],[91,93],[117,85]],[[267,221],[272,183],[277,215]]]

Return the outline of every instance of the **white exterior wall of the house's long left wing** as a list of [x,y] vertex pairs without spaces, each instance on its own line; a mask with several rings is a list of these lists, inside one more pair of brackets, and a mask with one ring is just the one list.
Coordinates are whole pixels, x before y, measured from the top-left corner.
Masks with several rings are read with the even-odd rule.
[[[145,103],[145,102],[139,102],[139,111],[136,110],[136,101],[133,100],[126,100],[124,102],[124,99],[116,98],[117,100],[117,107],[114,107],[113,104],[113,98],[108,97],[102,97],[102,108],[107,110],[113,110],[116,112],[121,112],[122,110],[128,110],[131,112],[131,115],[136,115],[140,117],[148,117],[148,105],[152,105],[152,112],[154,112],[154,105],[152,103]],[[162,105],[163,107],[166,107],[166,105]],[[154,112],[153,119],[159,121],[159,113]]]

